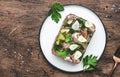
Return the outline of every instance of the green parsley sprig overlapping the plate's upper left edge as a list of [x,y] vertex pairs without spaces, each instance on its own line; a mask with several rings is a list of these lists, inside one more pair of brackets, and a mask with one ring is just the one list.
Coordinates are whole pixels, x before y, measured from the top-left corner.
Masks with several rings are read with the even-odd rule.
[[58,23],[58,21],[61,18],[61,14],[59,12],[63,10],[64,10],[64,7],[60,3],[54,3],[51,6],[50,11],[48,12],[48,15],[51,16],[52,20]]

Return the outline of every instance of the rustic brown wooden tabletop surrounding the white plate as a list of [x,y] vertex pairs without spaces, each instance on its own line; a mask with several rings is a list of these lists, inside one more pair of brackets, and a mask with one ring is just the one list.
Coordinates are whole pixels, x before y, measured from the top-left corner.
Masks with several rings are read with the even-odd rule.
[[[95,71],[65,73],[51,65],[39,48],[39,29],[51,1],[81,4],[95,11],[107,31],[107,46]],[[120,45],[120,0],[0,0],[0,77],[107,77]],[[49,25],[50,26],[50,25]],[[120,65],[114,72],[120,77]]]

